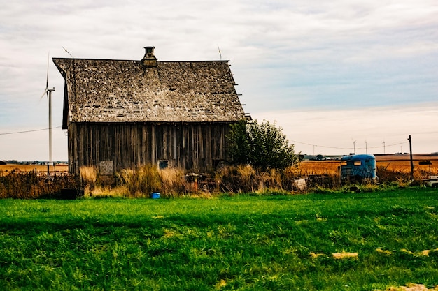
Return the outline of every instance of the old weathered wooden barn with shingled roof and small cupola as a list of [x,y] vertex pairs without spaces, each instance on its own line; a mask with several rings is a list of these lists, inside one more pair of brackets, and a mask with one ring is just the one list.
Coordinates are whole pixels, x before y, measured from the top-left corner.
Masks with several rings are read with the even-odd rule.
[[227,158],[229,124],[246,118],[228,61],[64,59],[69,171],[136,165],[206,171]]

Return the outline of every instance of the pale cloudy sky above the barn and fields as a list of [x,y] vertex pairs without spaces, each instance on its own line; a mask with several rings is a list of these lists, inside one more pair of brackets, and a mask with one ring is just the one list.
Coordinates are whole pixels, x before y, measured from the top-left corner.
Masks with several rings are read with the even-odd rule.
[[[50,57],[229,59],[253,119],[303,154],[438,151],[436,0],[0,0],[0,159],[48,159]],[[64,80],[50,61],[55,160]],[[14,134],[9,134],[14,133]],[[355,143],[353,143],[355,141]],[[383,148],[383,145],[385,147]]]

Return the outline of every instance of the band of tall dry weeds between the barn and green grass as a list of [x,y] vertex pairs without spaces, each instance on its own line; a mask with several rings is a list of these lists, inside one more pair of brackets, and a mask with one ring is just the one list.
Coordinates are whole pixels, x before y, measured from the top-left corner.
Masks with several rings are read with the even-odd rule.
[[225,166],[213,174],[187,174],[178,168],[159,170],[156,165],[144,165],[122,170],[114,177],[99,176],[96,167],[81,167],[78,178],[68,175],[45,177],[37,172],[0,172],[0,198],[59,197],[64,188],[80,189],[85,196],[93,197],[149,197],[151,192],[160,192],[161,197],[211,197],[220,193],[370,192],[388,187],[422,186],[425,177],[438,174],[434,172],[435,167],[430,172],[418,169],[411,180],[410,172],[402,167],[380,165],[377,167],[378,185],[342,185],[338,164],[330,161],[323,167],[323,163],[302,163],[285,170],[264,171],[250,165]]

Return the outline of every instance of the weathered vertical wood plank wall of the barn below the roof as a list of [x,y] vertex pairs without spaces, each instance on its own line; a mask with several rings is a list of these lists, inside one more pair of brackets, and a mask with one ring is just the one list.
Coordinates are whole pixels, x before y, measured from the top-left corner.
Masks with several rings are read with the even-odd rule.
[[211,170],[226,159],[229,124],[71,123],[69,167],[112,163],[113,172],[168,161],[170,167]]

